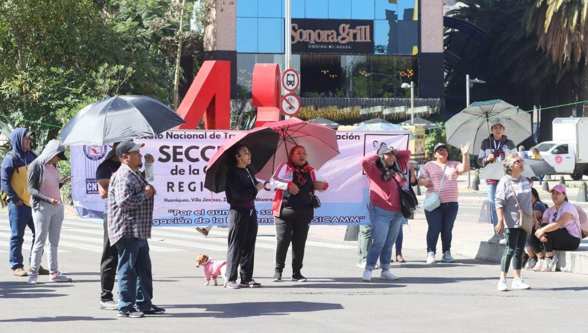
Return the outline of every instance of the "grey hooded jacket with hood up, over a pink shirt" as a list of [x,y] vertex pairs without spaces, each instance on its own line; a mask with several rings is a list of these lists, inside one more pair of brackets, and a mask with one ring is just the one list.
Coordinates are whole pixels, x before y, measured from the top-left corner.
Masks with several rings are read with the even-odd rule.
[[[45,164],[47,164],[56,154],[65,152],[65,147],[61,145],[61,142],[58,140],[51,140],[43,149],[43,152],[39,157],[37,157],[31,165],[29,165],[29,170],[27,173],[28,177],[28,188],[29,193],[31,193],[31,207],[33,209],[39,208],[39,201],[43,200],[47,203],[51,203],[51,199],[58,199],[59,198],[49,198],[44,196],[39,189],[43,181],[45,180]],[[55,169],[57,167],[55,166]],[[59,184],[61,187],[62,184]]]

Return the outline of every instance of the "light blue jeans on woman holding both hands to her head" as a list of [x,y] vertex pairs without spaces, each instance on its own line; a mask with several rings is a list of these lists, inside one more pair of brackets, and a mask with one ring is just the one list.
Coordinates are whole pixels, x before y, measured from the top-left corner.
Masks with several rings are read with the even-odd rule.
[[366,269],[373,270],[376,267],[377,258],[380,257],[382,270],[390,268],[392,258],[392,244],[396,241],[402,211],[389,211],[369,203],[369,219],[372,222],[372,245],[368,251]]

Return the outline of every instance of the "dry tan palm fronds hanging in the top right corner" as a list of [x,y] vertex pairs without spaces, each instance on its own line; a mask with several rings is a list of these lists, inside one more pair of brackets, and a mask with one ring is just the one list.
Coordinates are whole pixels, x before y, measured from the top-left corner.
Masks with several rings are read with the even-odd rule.
[[[539,47],[550,53],[562,69],[580,70],[578,97],[588,100],[588,0],[536,0],[527,10],[528,32],[539,38]],[[584,116],[588,103],[584,104]]]

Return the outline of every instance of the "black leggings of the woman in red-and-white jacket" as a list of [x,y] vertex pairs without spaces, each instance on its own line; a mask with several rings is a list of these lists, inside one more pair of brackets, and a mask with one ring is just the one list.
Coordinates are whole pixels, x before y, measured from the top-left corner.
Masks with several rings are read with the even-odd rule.
[[286,254],[292,242],[292,272],[300,272],[310,221],[314,215],[313,208],[296,209],[282,207],[280,216],[275,216],[276,226],[276,271],[282,272],[285,267]]

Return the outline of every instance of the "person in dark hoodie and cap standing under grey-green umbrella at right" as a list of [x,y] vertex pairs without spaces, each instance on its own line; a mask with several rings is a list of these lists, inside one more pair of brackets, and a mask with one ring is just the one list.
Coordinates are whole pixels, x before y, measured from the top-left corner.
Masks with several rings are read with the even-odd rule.
[[[515,143],[504,135],[505,126],[502,125],[500,119],[492,120],[491,124],[490,131],[492,134],[490,134],[488,140],[482,141],[480,153],[478,153],[477,162],[482,167],[490,163],[502,162],[511,151],[513,153],[517,152]],[[495,204],[497,183],[498,180],[496,179],[486,179],[486,193],[490,200],[490,217],[492,218],[492,225],[495,229],[496,224],[498,224]],[[500,238],[502,236],[495,232],[494,236],[488,240],[488,243],[498,243]]]

